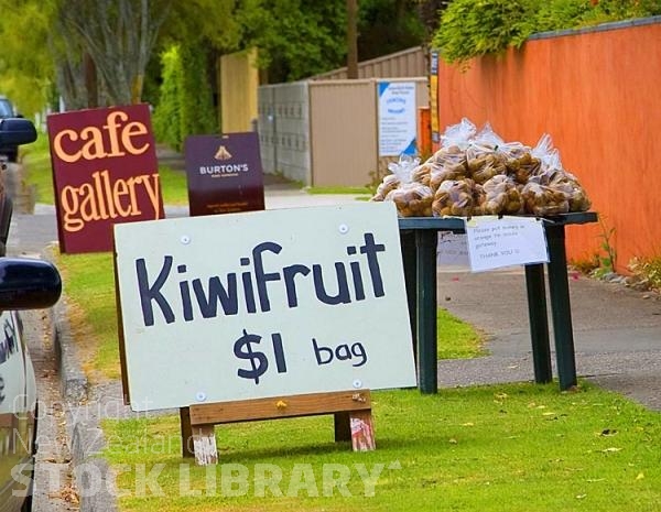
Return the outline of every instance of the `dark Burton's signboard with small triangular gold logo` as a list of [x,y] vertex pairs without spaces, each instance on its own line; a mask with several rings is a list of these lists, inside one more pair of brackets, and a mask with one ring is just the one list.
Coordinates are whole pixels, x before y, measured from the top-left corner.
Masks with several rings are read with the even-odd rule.
[[186,139],[191,216],[264,209],[264,184],[256,132]]

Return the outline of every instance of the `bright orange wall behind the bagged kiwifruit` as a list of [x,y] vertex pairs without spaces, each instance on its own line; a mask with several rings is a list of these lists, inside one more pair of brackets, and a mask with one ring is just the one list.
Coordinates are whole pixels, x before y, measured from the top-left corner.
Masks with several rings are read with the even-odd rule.
[[[440,126],[463,117],[532,146],[551,134],[615,229],[620,272],[636,255],[661,255],[661,22],[530,40],[464,73],[440,63]],[[599,252],[602,232],[570,227],[570,260]]]

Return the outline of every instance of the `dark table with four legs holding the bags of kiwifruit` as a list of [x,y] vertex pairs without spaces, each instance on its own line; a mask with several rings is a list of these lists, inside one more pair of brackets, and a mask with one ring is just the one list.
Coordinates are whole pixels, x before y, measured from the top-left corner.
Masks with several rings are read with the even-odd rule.
[[[560,389],[576,385],[574,333],[567,280],[565,226],[597,221],[594,211],[544,217],[549,247],[549,295],[555,340]],[[438,231],[465,232],[460,217],[403,217],[399,219],[409,315],[418,363],[418,381],[422,393],[436,393],[438,388],[436,357],[436,247]],[[551,382],[551,349],[546,317],[544,264],[525,265],[528,317],[532,342],[534,380]]]

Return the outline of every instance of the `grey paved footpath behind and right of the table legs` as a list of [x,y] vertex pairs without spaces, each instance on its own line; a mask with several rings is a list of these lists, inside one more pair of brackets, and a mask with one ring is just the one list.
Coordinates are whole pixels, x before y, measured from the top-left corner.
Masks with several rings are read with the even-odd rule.
[[[570,299],[579,378],[661,411],[661,297],[622,282],[571,273]],[[484,330],[490,352],[473,360],[440,361],[440,385],[533,379],[521,269],[473,274],[440,268],[438,301]],[[554,351],[552,358],[555,371]]]

